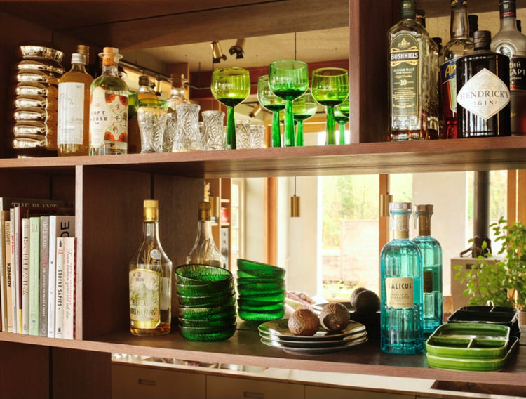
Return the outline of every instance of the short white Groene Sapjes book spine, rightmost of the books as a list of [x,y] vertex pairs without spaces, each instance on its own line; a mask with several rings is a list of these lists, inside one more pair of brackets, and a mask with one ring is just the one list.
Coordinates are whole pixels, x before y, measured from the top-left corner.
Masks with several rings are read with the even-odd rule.
[[76,262],[75,237],[64,239],[65,301],[64,301],[64,338],[75,338],[75,291]]

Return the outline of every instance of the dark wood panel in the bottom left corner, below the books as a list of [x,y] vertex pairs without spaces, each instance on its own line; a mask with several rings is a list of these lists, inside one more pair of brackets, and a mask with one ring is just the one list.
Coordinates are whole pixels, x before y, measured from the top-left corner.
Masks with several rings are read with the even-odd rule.
[[50,398],[49,348],[0,342],[1,398]]

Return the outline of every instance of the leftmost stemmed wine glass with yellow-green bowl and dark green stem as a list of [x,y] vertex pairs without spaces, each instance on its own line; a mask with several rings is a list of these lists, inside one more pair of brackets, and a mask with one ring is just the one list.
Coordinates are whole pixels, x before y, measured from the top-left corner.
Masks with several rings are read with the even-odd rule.
[[214,98],[227,107],[227,150],[236,148],[234,106],[250,94],[250,72],[243,68],[217,68],[212,72],[210,90]]

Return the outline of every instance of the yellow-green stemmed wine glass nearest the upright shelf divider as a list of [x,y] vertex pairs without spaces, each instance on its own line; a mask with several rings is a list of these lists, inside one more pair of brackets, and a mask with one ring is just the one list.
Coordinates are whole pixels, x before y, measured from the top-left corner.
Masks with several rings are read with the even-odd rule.
[[335,106],[349,96],[349,72],[342,68],[318,68],[312,71],[313,98],[327,107],[327,138],[325,144],[336,144]]

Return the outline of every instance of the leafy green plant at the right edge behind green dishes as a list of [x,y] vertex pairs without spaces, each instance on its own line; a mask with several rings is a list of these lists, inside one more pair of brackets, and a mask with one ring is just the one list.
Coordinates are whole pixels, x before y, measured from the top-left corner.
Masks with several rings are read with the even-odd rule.
[[[466,283],[464,295],[470,297],[470,305],[485,305],[487,301],[492,301],[494,306],[525,310],[526,226],[521,222],[508,225],[506,219],[500,218],[490,227],[495,241],[502,242],[497,255],[504,257],[494,258],[492,254],[479,256],[476,266],[465,272],[461,266],[455,266],[455,278]],[[492,262],[486,261],[488,258],[492,258]]]

